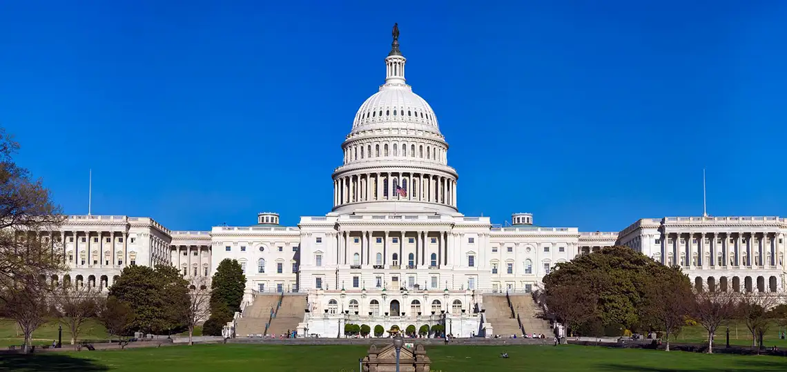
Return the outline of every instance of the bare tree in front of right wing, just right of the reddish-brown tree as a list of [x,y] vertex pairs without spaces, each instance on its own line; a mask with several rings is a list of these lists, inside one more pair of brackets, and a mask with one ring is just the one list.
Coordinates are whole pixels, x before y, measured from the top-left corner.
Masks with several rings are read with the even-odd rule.
[[713,337],[722,322],[736,315],[737,293],[722,292],[719,286],[695,291],[689,314],[708,331],[708,353],[713,353]]

